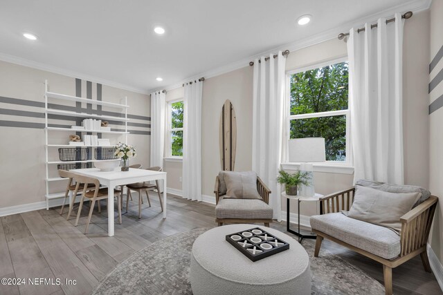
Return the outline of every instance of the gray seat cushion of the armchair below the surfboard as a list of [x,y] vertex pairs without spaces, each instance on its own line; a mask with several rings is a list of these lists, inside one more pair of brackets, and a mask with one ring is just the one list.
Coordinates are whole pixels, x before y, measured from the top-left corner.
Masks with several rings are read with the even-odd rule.
[[227,199],[221,197],[215,207],[215,218],[272,219],[269,204],[256,199]]

